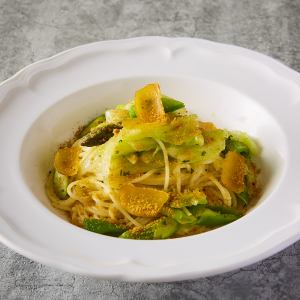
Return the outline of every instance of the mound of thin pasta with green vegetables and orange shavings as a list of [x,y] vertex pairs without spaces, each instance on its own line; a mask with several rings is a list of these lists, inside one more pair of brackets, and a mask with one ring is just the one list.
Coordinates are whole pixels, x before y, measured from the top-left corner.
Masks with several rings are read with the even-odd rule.
[[200,120],[153,83],[57,150],[46,192],[89,231],[182,237],[233,222],[255,204],[258,155],[246,133]]

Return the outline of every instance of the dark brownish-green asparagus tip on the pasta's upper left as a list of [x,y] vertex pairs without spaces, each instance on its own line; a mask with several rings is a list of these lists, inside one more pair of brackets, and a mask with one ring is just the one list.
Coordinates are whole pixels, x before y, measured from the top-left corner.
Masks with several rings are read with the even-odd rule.
[[81,145],[86,147],[102,145],[114,136],[115,129],[121,128],[122,126],[118,124],[103,124],[103,126],[100,125],[85,136],[84,141],[81,143]]

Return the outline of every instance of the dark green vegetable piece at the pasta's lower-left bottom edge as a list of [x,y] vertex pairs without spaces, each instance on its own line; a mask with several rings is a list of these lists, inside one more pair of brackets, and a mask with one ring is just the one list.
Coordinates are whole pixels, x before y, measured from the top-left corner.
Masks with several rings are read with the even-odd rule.
[[83,228],[110,236],[119,236],[128,229],[125,226],[113,224],[101,219],[84,219]]

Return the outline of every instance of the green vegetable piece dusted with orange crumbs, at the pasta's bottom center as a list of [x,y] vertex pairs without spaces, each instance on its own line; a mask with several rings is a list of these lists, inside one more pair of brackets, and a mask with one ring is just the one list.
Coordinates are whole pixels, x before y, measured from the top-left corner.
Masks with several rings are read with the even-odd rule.
[[178,224],[175,220],[162,217],[155,220],[145,227],[134,228],[125,231],[120,238],[135,240],[160,240],[171,237],[177,230]]

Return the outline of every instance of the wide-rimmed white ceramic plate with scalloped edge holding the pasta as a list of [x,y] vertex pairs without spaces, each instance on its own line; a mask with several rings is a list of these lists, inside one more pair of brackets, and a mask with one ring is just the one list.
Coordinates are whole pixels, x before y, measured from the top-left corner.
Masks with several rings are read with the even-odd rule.
[[[152,81],[203,120],[259,140],[261,200],[230,225],[173,240],[123,240],[69,224],[44,192],[57,145]],[[298,73],[204,40],[99,42],[30,65],[0,86],[1,242],[66,271],[129,281],[189,279],[254,263],[299,239],[299,113]]]

